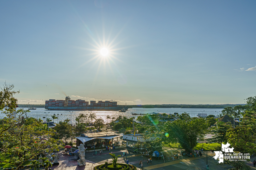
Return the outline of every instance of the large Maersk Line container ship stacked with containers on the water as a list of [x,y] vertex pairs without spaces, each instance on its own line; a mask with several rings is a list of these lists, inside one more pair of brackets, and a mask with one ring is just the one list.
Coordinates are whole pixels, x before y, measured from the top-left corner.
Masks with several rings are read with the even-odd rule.
[[88,101],[70,100],[67,96],[65,100],[49,99],[45,101],[45,109],[48,110],[94,110],[94,111],[115,111],[128,110],[128,106],[117,106],[116,101]]

